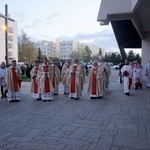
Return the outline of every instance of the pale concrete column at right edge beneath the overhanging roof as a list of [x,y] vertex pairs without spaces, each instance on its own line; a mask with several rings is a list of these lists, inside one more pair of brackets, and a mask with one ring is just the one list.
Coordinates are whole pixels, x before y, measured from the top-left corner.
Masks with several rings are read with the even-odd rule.
[[146,80],[145,77],[145,64],[147,64],[150,60],[150,32],[145,33],[144,40],[142,40],[142,79]]

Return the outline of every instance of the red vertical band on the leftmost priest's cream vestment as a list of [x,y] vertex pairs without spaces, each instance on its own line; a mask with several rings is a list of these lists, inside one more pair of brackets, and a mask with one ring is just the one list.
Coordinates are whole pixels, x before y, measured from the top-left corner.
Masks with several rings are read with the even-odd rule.
[[19,91],[19,87],[18,87],[19,80],[18,80],[16,68],[12,68],[12,78],[13,78],[13,82],[14,82],[14,92],[18,92]]

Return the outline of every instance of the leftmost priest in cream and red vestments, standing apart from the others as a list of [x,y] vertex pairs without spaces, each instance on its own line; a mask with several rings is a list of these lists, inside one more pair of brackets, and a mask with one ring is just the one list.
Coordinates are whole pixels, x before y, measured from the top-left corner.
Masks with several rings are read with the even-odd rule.
[[21,69],[16,66],[16,60],[11,62],[11,66],[6,70],[6,89],[8,90],[7,99],[9,102],[20,100]]

